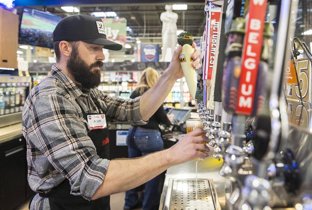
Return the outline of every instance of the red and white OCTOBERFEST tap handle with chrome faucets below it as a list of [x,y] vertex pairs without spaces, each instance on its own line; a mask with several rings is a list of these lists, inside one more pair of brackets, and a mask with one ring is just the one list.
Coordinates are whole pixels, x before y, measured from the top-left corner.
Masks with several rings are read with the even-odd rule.
[[[220,130],[221,122],[221,100],[215,102],[214,98],[221,98],[215,94],[217,89],[216,78],[220,79],[220,69],[217,69],[219,43],[220,43],[220,28],[222,25],[223,1],[205,1],[206,12],[206,28],[205,28],[205,47],[203,61],[203,107],[200,118],[206,136],[210,138],[210,146],[215,146],[214,139]],[[220,79],[221,80],[221,79]],[[212,123],[213,122],[213,123]]]

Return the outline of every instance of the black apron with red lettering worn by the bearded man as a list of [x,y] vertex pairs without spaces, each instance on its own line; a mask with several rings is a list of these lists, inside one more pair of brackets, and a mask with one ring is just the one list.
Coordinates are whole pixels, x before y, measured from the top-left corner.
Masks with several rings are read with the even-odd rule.
[[[103,114],[102,109],[98,101],[93,98],[96,106],[98,107],[100,113],[85,113],[83,108],[80,106],[83,118],[88,122],[87,116],[93,114]],[[78,103],[79,104],[79,103]],[[95,149],[100,158],[109,160],[109,132],[108,123],[106,128],[94,129],[88,132],[88,136],[95,145]],[[110,210],[110,196],[105,196],[93,201],[88,201],[82,196],[75,196],[71,193],[71,185],[69,180],[65,179],[61,184],[52,188],[48,193],[39,193],[43,198],[49,198],[49,204],[51,210],[56,209],[75,209],[75,210],[88,210],[88,209],[103,209]]]

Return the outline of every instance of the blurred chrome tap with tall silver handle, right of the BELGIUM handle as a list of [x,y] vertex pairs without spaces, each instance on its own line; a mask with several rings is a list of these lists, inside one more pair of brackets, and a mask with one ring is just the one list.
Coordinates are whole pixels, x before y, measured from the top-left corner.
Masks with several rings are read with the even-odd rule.
[[[291,27],[285,27],[281,23],[289,23],[291,17],[291,6],[298,3],[297,1],[282,1],[279,17],[279,27],[277,37],[279,40],[276,44],[276,53],[275,53],[275,62],[274,62],[274,71],[273,77],[275,78],[274,83],[271,85],[271,94],[270,94],[270,115],[271,115],[271,134],[268,143],[268,148],[266,153],[260,157],[253,159],[253,164],[255,165],[255,170],[253,175],[248,175],[245,179],[244,188],[242,189],[241,196],[237,200],[233,200],[235,203],[235,208],[241,208],[242,205],[246,205],[247,208],[251,209],[264,209],[268,206],[268,202],[272,199],[272,184],[275,183],[276,179],[280,179],[279,176],[282,176],[283,179],[285,174],[291,174],[292,180],[290,182],[296,183],[295,188],[298,188],[299,177],[295,172],[297,168],[297,163],[292,155],[291,151],[279,152],[281,139],[287,139],[288,134],[288,125],[285,120],[282,122],[282,118],[286,119],[287,115],[285,113],[285,103],[280,101],[284,81],[284,69],[285,66],[281,63],[281,60],[285,60],[284,53],[287,52],[287,38],[290,35]],[[311,55],[311,53],[310,53]],[[307,55],[308,56],[308,55]],[[292,59],[294,60],[294,54],[292,53]],[[298,78],[297,78],[298,79]],[[299,80],[298,80],[299,85]],[[301,96],[301,95],[300,95]],[[277,155],[279,153],[279,155]],[[279,157],[283,157],[284,161],[278,161]],[[287,161],[290,160],[290,166],[288,166]],[[281,167],[282,165],[282,167]],[[284,168],[285,166],[285,168]],[[274,170],[270,169],[274,168]],[[288,169],[290,168],[290,169]],[[276,173],[276,171],[279,171]],[[270,174],[268,171],[271,171]],[[274,172],[273,172],[274,171]],[[287,172],[288,171],[288,172]],[[272,172],[274,175],[272,175]],[[289,176],[289,175],[288,175]],[[269,178],[272,180],[269,181]],[[286,179],[285,179],[286,180]],[[293,193],[293,189],[290,189],[289,183],[285,183],[285,188],[289,190],[289,193]],[[293,187],[294,188],[294,187]],[[250,196],[251,192],[253,195]],[[237,196],[236,196],[237,197]],[[297,208],[298,209],[298,208]],[[308,208],[306,208],[308,209]]]

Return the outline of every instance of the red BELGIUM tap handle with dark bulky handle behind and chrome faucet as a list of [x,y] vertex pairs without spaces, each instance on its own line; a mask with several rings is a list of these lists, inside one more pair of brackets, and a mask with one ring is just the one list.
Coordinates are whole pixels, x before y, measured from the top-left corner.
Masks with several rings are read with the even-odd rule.
[[[245,160],[253,151],[250,142],[246,145],[246,120],[248,116],[257,114],[265,98],[266,86],[261,83],[266,82],[268,67],[263,56],[268,55],[264,52],[268,49],[266,39],[273,35],[271,23],[264,24],[266,2],[255,4],[250,1],[248,9],[247,21],[243,17],[235,17],[227,31],[227,59],[223,70],[223,130],[218,132],[214,154],[217,159],[224,158],[220,174],[231,177],[239,189],[243,188],[246,175],[252,173],[245,166]],[[266,37],[264,41],[263,31]],[[232,135],[228,132],[230,127]],[[240,190],[234,192],[239,193]]]

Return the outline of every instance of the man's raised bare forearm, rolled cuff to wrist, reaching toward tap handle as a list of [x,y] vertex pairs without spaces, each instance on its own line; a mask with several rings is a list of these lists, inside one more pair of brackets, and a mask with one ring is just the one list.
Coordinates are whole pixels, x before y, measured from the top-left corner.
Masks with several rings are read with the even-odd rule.
[[147,121],[160,107],[175,82],[174,75],[170,75],[169,71],[166,70],[158,82],[142,95],[140,98],[140,112],[144,121]]

